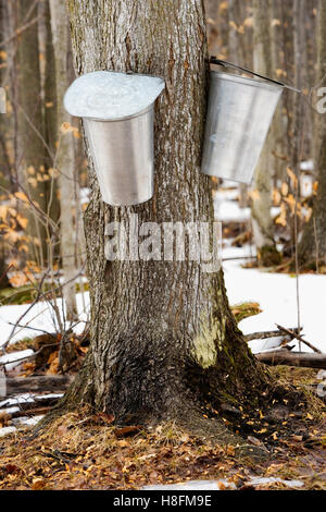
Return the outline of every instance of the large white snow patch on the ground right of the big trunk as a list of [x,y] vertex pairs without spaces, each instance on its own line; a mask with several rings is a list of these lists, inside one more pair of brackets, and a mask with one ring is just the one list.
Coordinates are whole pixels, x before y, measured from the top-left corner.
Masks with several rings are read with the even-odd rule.
[[[230,247],[223,251],[223,258],[249,256],[249,246]],[[297,283],[296,278],[284,273],[269,273],[258,269],[243,269],[244,260],[224,263],[224,276],[229,303],[258,302],[263,313],[246,318],[239,324],[244,334],[276,330],[275,324],[283,327],[297,327]],[[300,317],[303,338],[317,349],[326,352],[324,315],[326,312],[326,276],[303,275],[299,278]],[[291,345],[296,342],[291,342]],[[254,352],[269,348],[268,342],[250,343]],[[304,352],[310,349],[302,345]]]

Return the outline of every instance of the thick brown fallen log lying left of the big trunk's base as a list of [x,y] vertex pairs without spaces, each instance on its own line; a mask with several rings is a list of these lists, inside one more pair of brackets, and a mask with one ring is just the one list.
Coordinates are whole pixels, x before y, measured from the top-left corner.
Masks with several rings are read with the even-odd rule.
[[7,395],[43,391],[58,393],[64,391],[72,380],[71,375],[8,378],[5,380]]

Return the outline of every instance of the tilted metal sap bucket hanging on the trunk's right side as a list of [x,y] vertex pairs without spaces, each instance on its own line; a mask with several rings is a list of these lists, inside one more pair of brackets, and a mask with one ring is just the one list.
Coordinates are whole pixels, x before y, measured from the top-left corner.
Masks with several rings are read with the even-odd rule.
[[251,183],[284,87],[211,71],[203,174]]

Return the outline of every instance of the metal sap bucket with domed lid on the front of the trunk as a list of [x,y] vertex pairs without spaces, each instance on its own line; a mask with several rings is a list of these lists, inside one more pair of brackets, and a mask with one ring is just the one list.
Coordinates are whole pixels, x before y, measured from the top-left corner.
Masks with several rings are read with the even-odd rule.
[[160,77],[101,71],[77,78],[65,108],[83,118],[102,198],[131,206],[154,193],[154,102]]

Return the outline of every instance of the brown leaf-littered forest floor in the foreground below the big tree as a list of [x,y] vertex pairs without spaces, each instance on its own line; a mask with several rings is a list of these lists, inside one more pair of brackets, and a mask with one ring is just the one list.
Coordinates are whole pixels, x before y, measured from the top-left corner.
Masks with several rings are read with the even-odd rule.
[[[315,377],[303,368],[272,373],[304,391]],[[68,413],[37,436],[25,427],[0,439],[0,489],[139,489],[215,480],[221,489],[326,490],[326,406],[311,397],[310,411],[298,415],[287,405],[278,404],[274,415],[237,418],[241,435],[241,424],[252,424],[247,443],[260,447],[263,458],[241,455],[237,446],[193,437],[173,423],[116,427],[101,413]]]

